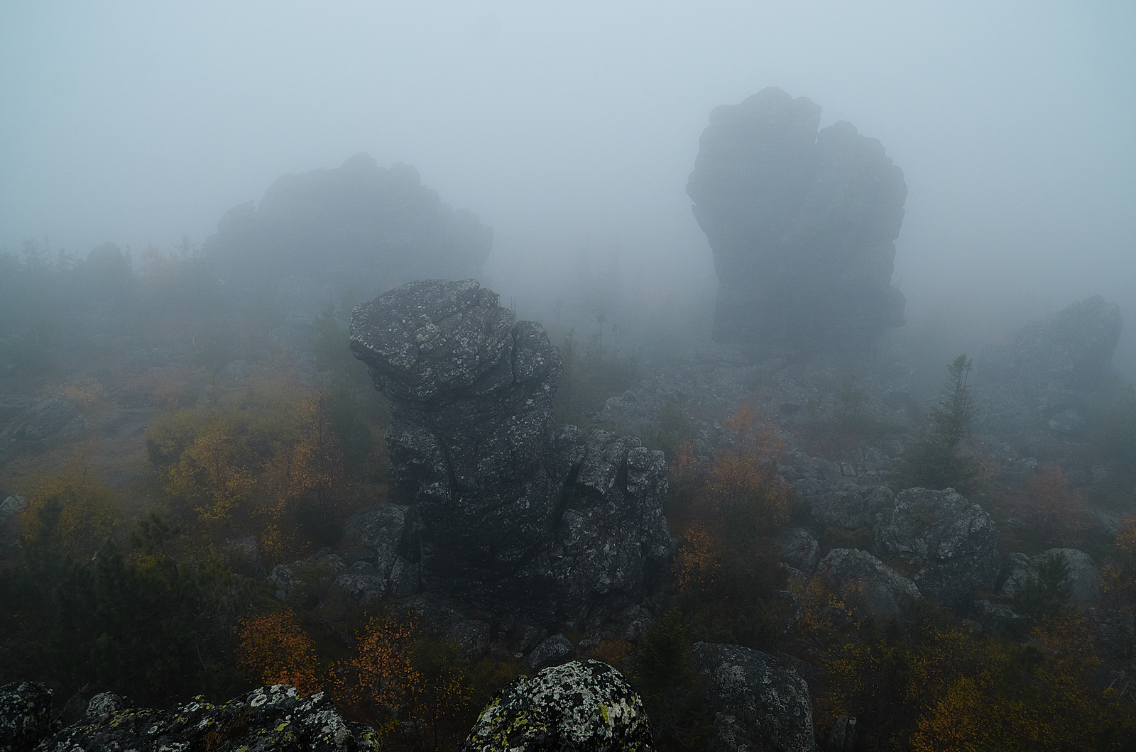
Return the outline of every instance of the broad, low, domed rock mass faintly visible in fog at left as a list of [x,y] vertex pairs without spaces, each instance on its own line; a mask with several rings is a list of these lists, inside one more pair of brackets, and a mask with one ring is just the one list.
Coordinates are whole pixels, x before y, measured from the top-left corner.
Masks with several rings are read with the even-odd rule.
[[336,169],[284,175],[259,206],[229,209],[206,252],[226,284],[294,277],[367,291],[474,276],[492,243],[491,228],[443,203],[414,167],[358,153]]

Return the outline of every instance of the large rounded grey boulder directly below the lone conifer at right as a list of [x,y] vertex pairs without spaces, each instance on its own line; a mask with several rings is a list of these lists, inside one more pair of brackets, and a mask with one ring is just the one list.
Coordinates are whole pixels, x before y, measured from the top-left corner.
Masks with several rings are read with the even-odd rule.
[[994,521],[953,488],[901,491],[876,518],[876,546],[916,568],[919,591],[947,605],[993,587],[1001,569]]

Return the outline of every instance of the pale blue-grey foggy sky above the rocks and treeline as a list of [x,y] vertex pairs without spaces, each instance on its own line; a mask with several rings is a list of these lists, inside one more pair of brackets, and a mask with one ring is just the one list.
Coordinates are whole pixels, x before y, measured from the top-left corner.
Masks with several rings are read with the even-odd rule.
[[1136,8],[991,5],[7,3],[0,247],[201,242],[367,151],[493,227],[483,282],[523,316],[582,260],[693,300],[716,284],[699,135],[779,86],[903,169],[913,336],[972,348],[1102,294],[1131,376]]

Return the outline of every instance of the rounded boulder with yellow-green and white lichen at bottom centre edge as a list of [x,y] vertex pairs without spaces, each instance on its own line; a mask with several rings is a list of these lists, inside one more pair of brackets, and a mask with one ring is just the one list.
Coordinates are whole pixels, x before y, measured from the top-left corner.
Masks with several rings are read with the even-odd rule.
[[651,749],[643,701],[601,661],[520,677],[477,717],[460,752],[640,752]]

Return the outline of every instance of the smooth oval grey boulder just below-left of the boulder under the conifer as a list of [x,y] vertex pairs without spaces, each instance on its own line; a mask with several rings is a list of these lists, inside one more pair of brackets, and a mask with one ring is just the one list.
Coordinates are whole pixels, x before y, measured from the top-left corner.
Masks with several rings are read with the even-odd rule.
[[877,621],[907,615],[919,598],[914,583],[859,549],[833,549],[817,571],[849,608]]

